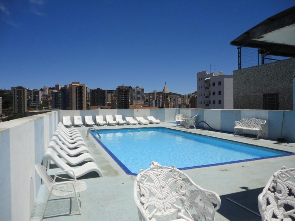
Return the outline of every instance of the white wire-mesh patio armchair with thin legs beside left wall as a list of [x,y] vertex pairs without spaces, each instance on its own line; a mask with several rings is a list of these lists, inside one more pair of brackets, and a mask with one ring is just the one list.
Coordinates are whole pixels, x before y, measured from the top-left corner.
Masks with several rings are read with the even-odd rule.
[[[53,194],[56,197],[63,197],[63,196],[67,196],[69,194],[74,193],[77,203],[78,203],[78,211],[79,211],[79,214],[81,214],[81,211],[80,211],[81,204],[79,206],[77,192],[85,191],[87,189],[87,186],[86,186],[85,182],[76,179],[76,176],[75,176],[75,173],[73,170],[58,171],[56,174],[51,174],[41,164],[35,164],[35,169],[36,169],[37,173],[39,174],[39,176],[41,177],[41,179],[43,180],[46,188],[48,189],[48,191],[50,193],[49,197],[46,200],[46,204],[44,207],[44,211],[43,211],[41,220],[43,220],[43,218],[44,218],[46,206],[48,204],[51,194]],[[67,178],[62,178],[62,177],[57,176],[57,174],[62,173],[62,172],[71,172],[73,174],[74,179],[67,179]],[[54,175],[54,178],[52,178],[50,175]],[[56,177],[58,177],[59,179],[63,179],[65,181],[56,182],[55,181]]]

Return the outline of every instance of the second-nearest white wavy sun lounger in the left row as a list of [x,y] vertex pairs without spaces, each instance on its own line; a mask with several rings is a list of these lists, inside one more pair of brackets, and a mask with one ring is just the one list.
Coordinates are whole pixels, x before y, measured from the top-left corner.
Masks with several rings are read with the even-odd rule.
[[[89,160],[96,163],[94,158],[89,153],[84,153],[76,157],[68,156],[65,152],[63,152],[62,149],[60,149],[58,145],[56,145],[54,141],[49,142],[48,148],[52,148],[61,158],[63,158],[67,163],[71,165],[77,165],[84,161],[89,161]],[[47,165],[46,162],[45,164]]]

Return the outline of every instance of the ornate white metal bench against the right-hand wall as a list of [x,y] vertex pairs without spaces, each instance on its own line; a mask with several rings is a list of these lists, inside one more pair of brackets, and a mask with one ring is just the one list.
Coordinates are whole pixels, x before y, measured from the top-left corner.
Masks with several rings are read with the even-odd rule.
[[247,130],[254,130],[257,131],[257,139],[259,136],[259,131],[262,131],[262,127],[264,126],[264,124],[266,124],[266,120],[260,120],[260,119],[256,119],[256,118],[242,118],[242,120],[240,121],[235,121],[235,134],[237,131],[241,131],[241,133],[244,135],[243,133],[243,129],[247,129]]

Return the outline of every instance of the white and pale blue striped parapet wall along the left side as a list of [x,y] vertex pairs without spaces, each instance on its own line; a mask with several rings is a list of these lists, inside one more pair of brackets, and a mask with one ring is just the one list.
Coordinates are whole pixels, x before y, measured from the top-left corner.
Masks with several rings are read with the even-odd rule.
[[35,164],[58,123],[48,112],[0,123],[0,220],[29,220],[40,188]]

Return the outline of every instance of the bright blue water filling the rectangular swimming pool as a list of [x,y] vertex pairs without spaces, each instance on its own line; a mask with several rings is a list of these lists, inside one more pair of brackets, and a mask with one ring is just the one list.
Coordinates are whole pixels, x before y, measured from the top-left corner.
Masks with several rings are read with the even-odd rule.
[[[95,132],[92,134],[97,137]],[[117,157],[124,164],[122,166],[118,161],[119,165],[126,166],[132,173],[147,169],[151,161],[191,169],[200,165],[290,154],[163,127],[99,130],[99,134],[104,148],[111,151],[107,150],[109,154],[115,160]]]

